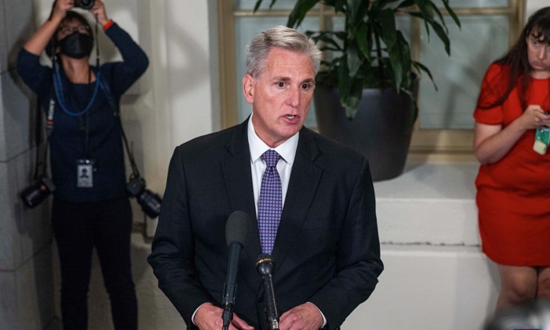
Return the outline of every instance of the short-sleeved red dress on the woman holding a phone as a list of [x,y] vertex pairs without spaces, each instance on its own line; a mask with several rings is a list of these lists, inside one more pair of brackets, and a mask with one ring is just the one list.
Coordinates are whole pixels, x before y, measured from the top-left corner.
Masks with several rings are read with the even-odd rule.
[[[496,100],[492,91],[507,87],[506,70],[491,65],[485,74],[478,104]],[[527,104],[550,109],[550,79],[533,79]],[[522,115],[517,88],[492,109],[474,111],[476,122],[509,125]],[[550,150],[533,151],[535,130],[526,131],[509,153],[494,164],[481,165],[476,178],[476,203],[483,252],[495,263],[550,266]]]

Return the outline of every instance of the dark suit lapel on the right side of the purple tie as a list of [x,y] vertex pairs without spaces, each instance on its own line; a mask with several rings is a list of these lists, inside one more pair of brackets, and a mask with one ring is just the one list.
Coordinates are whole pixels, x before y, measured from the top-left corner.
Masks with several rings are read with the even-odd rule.
[[285,206],[283,206],[281,223],[279,223],[272,252],[276,270],[280,269],[285,261],[289,248],[296,240],[296,235],[314,200],[322,175],[322,169],[314,164],[318,155],[319,150],[312,132],[303,128],[300,131],[300,140],[298,140],[296,158],[292,166]]

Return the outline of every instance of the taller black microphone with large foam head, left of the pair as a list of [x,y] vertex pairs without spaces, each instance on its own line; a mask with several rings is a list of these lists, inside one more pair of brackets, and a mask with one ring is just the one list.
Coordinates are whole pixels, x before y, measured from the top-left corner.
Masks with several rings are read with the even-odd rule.
[[229,329],[233,319],[236,294],[236,274],[239,270],[239,254],[250,228],[250,217],[243,211],[234,211],[225,223],[225,242],[229,247],[228,274],[223,287],[223,330]]

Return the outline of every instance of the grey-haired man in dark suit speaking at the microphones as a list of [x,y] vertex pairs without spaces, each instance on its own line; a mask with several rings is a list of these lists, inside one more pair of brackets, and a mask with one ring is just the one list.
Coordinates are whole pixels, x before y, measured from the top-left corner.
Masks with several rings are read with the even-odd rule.
[[[369,164],[303,127],[320,63],[311,39],[278,26],[256,36],[246,56],[243,93],[252,115],[175,149],[148,262],[190,329],[221,329],[225,222],[242,210],[252,224],[230,329],[267,329],[254,268],[266,250],[276,263],[280,329],[338,329],[383,269]],[[280,156],[274,172],[282,191],[272,248],[259,230],[269,150]]]

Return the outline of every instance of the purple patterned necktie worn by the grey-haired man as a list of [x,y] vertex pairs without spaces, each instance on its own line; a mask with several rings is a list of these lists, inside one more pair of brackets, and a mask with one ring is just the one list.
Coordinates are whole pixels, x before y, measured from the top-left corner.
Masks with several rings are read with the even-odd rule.
[[258,229],[260,230],[262,252],[271,254],[283,212],[281,177],[279,177],[276,167],[281,155],[274,150],[268,150],[261,155],[261,158],[267,164],[267,168],[263,173],[258,200]]

